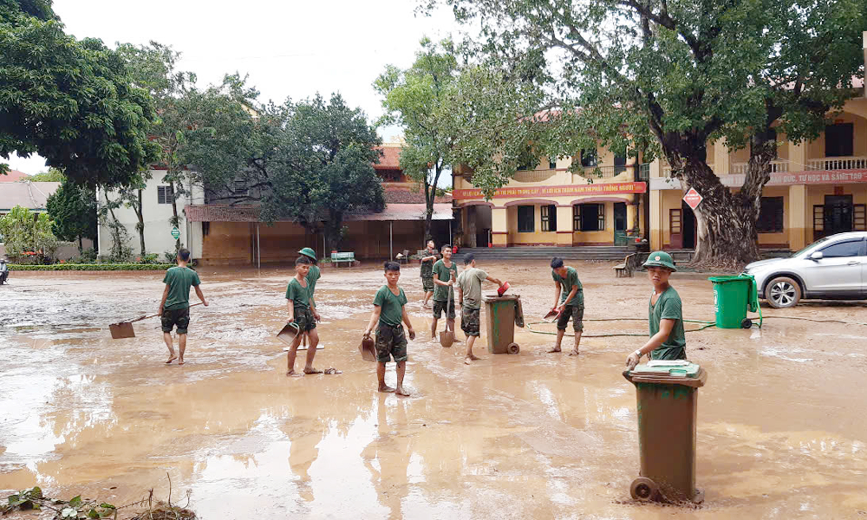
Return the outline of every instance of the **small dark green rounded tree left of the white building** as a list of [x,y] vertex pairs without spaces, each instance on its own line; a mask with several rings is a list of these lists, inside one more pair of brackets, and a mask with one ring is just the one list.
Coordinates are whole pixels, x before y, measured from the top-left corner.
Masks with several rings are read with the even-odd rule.
[[46,208],[54,220],[52,230],[61,240],[78,241],[81,238],[96,240],[96,194],[94,190],[63,180],[52,193]]

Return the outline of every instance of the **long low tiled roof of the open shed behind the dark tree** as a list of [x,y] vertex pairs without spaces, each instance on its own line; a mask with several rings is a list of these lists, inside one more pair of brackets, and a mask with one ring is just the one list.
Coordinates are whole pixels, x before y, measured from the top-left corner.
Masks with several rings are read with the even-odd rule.
[[[259,208],[249,205],[186,205],[186,218],[191,222],[258,222]],[[389,204],[385,211],[354,213],[345,220],[423,220],[424,204]],[[451,204],[434,204],[433,220],[451,220]],[[283,220],[287,222],[288,220]]]

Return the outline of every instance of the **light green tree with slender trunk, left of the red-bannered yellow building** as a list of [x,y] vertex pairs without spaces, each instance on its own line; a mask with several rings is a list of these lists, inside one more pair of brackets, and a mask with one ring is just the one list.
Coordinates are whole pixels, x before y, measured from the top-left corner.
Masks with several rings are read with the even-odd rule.
[[403,130],[401,169],[424,191],[427,239],[437,186],[449,168],[468,168],[473,185],[491,195],[531,160],[527,145],[542,100],[514,70],[461,60],[451,40],[423,38],[420,47],[412,67],[389,65],[374,88],[386,110],[379,124]]

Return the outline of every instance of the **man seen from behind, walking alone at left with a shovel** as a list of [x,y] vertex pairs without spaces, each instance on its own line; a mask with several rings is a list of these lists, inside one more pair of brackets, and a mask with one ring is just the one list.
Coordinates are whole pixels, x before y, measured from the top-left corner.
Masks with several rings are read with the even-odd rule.
[[[179,365],[184,364],[184,351],[186,350],[186,330],[190,325],[190,287],[196,288],[196,296],[208,306],[202,289],[199,289],[199,275],[196,271],[186,266],[190,261],[190,250],[181,248],[178,250],[178,266],[166,271],[163,283],[162,301],[160,302],[160,324],[163,329],[163,340],[168,347],[168,361],[166,365],[178,360]],[[178,350],[180,356],[174,355],[172,341],[172,329],[178,328]]]

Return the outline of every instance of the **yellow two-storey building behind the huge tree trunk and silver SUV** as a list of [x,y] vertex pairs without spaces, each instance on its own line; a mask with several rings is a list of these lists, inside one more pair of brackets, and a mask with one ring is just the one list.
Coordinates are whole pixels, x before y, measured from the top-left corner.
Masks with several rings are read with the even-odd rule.
[[[859,81],[857,87],[863,87]],[[867,231],[867,97],[848,101],[818,139],[793,143],[785,133],[762,191],[759,247],[800,250],[820,237]],[[749,150],[731,151],[708,143],[707,163],[732,191],[746,176]],[[693,211],[671,168],[657,160],[649,167],[651,249],[691,250],[696,241]]]

